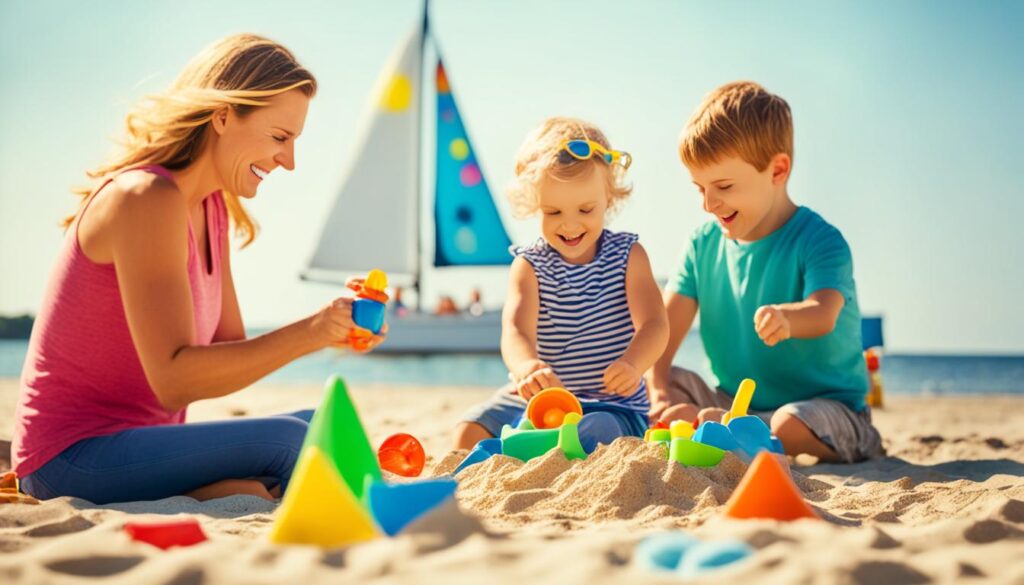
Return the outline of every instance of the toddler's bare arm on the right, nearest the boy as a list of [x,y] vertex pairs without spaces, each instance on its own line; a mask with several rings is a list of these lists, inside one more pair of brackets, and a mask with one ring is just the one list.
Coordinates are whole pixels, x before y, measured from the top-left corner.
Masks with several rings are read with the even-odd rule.
[[622,359],[642,374],[665,351],[669,341],[669,319],[647,252],[639,243],[633,244],[626,264],[626,299],[636,334]]

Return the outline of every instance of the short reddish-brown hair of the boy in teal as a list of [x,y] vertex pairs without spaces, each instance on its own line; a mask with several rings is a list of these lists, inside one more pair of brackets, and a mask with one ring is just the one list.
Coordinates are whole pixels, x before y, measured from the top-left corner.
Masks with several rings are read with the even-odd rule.
[[793,158],[790,105],[753,81],[727,83],[705,96],[679,138],[687,167],[735,156],[763,171],[781,153]]

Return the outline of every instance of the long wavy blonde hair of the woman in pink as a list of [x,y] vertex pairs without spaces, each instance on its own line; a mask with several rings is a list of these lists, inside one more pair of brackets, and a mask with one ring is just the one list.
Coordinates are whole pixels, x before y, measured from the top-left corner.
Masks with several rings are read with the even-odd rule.
[[[269,39],[231,35],[206,47],[169,89],[142,98],[128,114],[120,149],[105,163],[86,172],[94,184],[74,190],[82,201],[63,226],[72,224],[95,191],[95,183],[104,177],[143,165],[183,169],[203,152],[216,112],[226,107],[246,116],[254,108],[266,106],[265,98],[292,89],[312,97],[316,80],[291,51]],[[234,233],[245,247],[256,238],[256,223],[237,195],[223,192],[223,196]]]

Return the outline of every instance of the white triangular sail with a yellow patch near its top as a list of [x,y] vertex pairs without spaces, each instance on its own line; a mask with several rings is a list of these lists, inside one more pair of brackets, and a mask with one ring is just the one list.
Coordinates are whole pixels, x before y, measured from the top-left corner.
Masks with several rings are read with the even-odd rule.
[[378,80],[369,124],[304,278],[342,282],[380,268],[394,284],[418,280],[423,34],[423,25],[414,26]]

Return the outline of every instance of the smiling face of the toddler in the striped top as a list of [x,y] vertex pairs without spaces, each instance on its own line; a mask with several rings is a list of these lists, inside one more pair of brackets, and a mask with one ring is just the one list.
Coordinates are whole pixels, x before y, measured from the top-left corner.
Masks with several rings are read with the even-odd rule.
[[607,169],[571,180],[545,176],[538,185],[541,234],[566,262],[586,264],[597,254],[608,209]]

